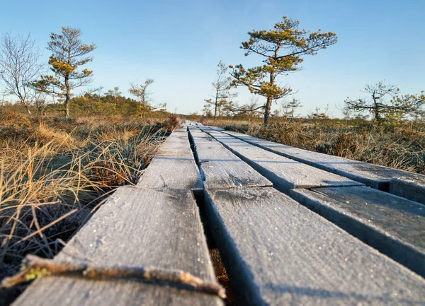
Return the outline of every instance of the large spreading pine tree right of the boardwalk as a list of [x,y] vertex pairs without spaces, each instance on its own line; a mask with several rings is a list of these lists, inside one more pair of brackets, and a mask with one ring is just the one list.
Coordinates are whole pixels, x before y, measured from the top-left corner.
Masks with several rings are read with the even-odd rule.
[[268,124],[271,115],[271,103],[290,94],[289,86],[279,86],[276,78],[300,69],[305,55],[317,54],[319,49],[334,45],[338,38],[335,33],[310,33],[300,30],[300,22],[283,16],[283,21],[276,23],[272,30],[253,30],[249,40],[242,42],[241,49],[245,56],[258,54],[263,59],[262,66],[245,69],[242,64],[229,66],[234,77],[232,85],[246,86],[251,93],[266,97],[266,103],[258,107],[263,109],[264,124]]

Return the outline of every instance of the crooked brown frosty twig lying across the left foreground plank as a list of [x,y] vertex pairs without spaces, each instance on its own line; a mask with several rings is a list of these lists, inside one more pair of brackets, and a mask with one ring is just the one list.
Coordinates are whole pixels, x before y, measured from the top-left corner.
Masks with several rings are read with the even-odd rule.
[[42,276],[80,276],[90,279],[133,278],[142,281],[160,281],[187,286],[201,293],[226,298],[225,289],[217,283],[203,281],[182,270],[161,269],[149,266],[96,266],[84,262],[54,261],[27,255],[22,271],[15,276],[4,278],[3,287],[12,287],[18,283],[32,281]]

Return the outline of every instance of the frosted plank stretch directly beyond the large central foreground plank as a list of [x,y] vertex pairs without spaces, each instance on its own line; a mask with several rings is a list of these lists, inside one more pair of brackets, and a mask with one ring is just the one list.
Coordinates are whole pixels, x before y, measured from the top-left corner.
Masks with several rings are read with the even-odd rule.
[[206,188],[261,187],[271,182],[200,129],[190,129]]

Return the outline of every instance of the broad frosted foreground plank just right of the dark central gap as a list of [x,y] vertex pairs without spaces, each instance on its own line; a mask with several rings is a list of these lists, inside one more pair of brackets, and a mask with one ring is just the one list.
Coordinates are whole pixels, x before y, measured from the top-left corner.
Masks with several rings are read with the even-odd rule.
[[273,188],[206,192],[241,305],[423,305],[424,278]]

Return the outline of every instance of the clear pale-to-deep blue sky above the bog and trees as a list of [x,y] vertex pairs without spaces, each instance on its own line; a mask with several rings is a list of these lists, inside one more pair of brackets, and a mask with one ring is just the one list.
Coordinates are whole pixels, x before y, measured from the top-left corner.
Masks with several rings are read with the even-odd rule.
[[[367,83],[385,79],[402,93],[425,90],[425,1],[3,1],[0,34],[30,33],[44,49],[49,33],[62,25],[81,28],[83,42],[94,42],[91,88],[119,86],[154,78],[154,102],[170,111],[200,112],[211,93],[217,62],[261,64],[239,49],[249,30],[268,30],[282,16],[300,20],[306,30],[335,32],[339,42],[305,57],[303,70],[280,78],[297,93],[306,114],[358,98]],[[239,103],[250,98],[239,88]],[[76,90],[78,93],[79,90]],[[260,101],[263,98],[259,98]]]

